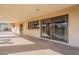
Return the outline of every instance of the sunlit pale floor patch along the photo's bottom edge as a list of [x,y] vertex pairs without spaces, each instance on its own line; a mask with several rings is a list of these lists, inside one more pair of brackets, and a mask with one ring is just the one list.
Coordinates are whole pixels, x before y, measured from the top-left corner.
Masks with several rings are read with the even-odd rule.
[[30,52],[11,53],[9,55],[62,55],[62,54],[51,49],[44,49]]

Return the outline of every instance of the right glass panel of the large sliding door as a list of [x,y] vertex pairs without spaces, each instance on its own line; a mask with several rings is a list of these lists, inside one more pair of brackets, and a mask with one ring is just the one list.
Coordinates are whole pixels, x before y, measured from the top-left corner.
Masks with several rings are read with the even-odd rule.
[[67,16],[54,18],[52,22],[52,38],[67,42]]

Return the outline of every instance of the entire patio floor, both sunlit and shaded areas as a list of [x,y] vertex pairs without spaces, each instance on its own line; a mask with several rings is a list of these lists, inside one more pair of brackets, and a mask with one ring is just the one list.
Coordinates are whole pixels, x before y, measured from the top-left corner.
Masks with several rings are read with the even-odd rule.
[[49,42],[39,38],[11,32],[1,32],[0,39],[10,39],[10,43],[0,43],[0,55],[78,55],[79,48]]

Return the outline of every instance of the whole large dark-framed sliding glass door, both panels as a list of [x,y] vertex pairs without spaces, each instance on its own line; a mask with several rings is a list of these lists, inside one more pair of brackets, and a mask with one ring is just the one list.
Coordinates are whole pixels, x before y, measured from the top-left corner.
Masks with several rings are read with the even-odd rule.
[[68,15],[41,20],[41,37],[68,42]]

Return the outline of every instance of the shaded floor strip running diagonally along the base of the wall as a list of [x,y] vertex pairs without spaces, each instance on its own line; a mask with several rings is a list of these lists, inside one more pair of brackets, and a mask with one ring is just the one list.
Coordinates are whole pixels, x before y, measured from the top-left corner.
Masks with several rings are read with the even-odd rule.
[[21,34],[20,36],[25,39],[31,40],[36,44],[39,44],[40,46],[45,46],[47,49],[51,49],[53,51],[59,52],[63,55],[79,55],[78,47],[68,46],[68,45],[64,45],[56,42],[50,42],[50,41],[46,41],[40,38],[36,38],[29,35],[24,35],[24,34]]

